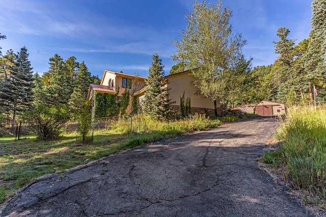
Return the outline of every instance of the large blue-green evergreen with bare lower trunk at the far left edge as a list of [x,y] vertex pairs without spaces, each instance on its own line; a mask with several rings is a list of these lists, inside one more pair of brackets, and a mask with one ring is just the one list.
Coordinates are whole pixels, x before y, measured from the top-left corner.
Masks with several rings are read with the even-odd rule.
[[28,57],[27,48],[22,47],[15,55],[14,65],[9,67],[10,77],[5,78],[0,89],[0,105],[6,111],[12,111],[13,125],[17,112],[32,108],[33,68]]

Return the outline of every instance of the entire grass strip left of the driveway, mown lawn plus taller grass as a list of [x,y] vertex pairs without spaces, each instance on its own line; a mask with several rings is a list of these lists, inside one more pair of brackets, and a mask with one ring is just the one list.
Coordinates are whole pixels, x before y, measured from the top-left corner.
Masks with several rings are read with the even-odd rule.
[[223,121],[236,119],[239,118],[211,120],[197,115],[184,120],[157,122],[146,116],[135,116],[132,120],[120,119],[110,130],[94,131],[92,144],[80,144],[77,133],[65,134],[58,141],[35,138],[0,141],[0,202],[5,202],[16,189],[45,174],[64,172],[128,148],[185,132],[207,130],[218,127]]

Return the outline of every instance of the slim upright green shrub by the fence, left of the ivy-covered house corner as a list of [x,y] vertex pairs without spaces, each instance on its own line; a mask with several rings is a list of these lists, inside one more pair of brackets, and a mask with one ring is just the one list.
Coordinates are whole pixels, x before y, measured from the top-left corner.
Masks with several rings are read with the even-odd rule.
[[82,138],[83,144],[85,144],[92,128],[91,106],[85,103],[79,111],[77,132]]

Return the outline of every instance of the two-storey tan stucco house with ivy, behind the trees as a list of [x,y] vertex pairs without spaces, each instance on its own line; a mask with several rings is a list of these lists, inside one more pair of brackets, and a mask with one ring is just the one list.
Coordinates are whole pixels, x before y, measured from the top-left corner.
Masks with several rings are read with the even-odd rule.
[[[184,94],[184,98],[191,99],[191,113],[206,114],[214,116],[214,104],[211,99],[198,94],[198,90],[192,84],[195,78],[191,75],[191,70],[167,75],[164,77],[168,85],[169,99],[172,115],[179,116],[181,114],[180,97]],[[93,99],[94,92],[116,94],[117,86],[119,86],[118,97],[125,89],[130,90],[131,98],[138,98],[140,102],[144,100],[146,94],[146,77],[125,74],[105,70],[100,85],[90,85],[88,92],[88,100]],[[132,90],[132,91],[131,91]],[[119,100],[119,99],[117,99]],[[131,101],[126,113],[131,113]],[[141,103],[142,104],[142,103]],[[218,103],[218,111],[221,105]]]

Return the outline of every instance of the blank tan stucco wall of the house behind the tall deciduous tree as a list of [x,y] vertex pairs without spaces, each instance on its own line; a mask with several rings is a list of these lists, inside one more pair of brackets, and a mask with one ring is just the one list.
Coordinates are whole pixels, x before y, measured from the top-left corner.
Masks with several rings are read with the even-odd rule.
[[[214,109],[214,104],[211,99],[205,98],[202,95],[195,95],[197,89],[192,84],[195,79],[190,72],[184,72],[167,77],[169,83],[169,98],[171,105],[180,105],[180,96],[184,92],[184,98],[191,98],[191,107],[211,108]],[[218,107],[221,105],[218,103]]]

